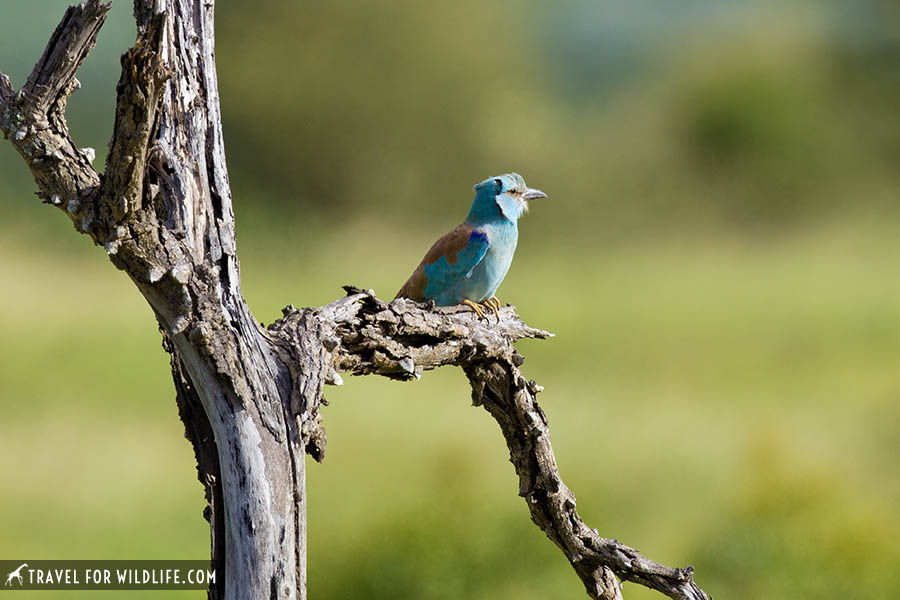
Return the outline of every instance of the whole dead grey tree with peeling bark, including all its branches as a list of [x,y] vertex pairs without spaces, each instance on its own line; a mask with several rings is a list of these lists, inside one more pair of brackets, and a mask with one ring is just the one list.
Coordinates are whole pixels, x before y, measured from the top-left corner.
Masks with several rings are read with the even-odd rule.
[[[213,0],[135,0],[137,41],[122,56],[106,169],[69,134],[75,73],[108,4],[70,7],[21,90],[0,74],[0,129],[28,164],[38,196],[104,248],[156,314],[178,408],[206,489],[211,598],[306,597],[305,455],[322,460],[322,389],[339,371],[394,379],[457,365],[472,400],[500,425],[531,518],[592,598],[632,581],[705,599],[691,567],[665,567],[600,537],[575,510],[513,342],[546,337],[513,308],[499,322],[347,288],[268,328],[240,287],[234,214],[213,55]],[[223,576],[224,575],[224,576]]]

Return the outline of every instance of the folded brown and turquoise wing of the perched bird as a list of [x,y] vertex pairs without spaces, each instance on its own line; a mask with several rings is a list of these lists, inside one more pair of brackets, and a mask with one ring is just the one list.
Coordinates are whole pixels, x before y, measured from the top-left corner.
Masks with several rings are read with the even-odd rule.
[[419,301],[434,298],[471,274],[484,258],[487,249],[487,234],[463,223],[434,243],[409,280],[397,292],[397,298]]

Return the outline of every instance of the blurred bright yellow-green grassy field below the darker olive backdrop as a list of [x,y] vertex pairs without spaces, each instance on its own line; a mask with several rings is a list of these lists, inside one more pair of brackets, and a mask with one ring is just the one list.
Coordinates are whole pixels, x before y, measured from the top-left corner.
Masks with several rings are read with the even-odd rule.
[[[523,242],[501,299],[557,334],[520,350],[585,520],[694,564],[719,598],[900,595],[891,225]],[[363,232],[392,243],[373,255]],[[390,297],[421,235],[239,232],[244,291],[265,322],[344,283]],[[0,236],[0,556],[202,558],[202,490],[155,322],[80,242],[42,254],[29,232]],[[327,460],[309,466],[312,597],[583,595],[461,372],[347,379],[327,394]]]

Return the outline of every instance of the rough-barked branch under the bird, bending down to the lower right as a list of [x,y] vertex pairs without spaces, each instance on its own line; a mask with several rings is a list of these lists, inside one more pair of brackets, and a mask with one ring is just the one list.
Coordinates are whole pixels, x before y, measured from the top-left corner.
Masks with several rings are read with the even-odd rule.
[[[560,547],[590,597],[620,598],[617,576],[670,598],[708,598],[694,583],[691,567],[666,567],[600,537],[575,510],[575,496],[559,476],[547,418],[536,400],[542,388],[522,376],[518,367],[524,359],[513,345],[522,338],[552,334],[527,326],[513,307],[503,308],[499,318],[479,319],[466,307],[429,309],[404,299],[388,304],[371,291],[345,289],[346,298],[323,307],[289,306],[284,317],[269,326],[276,345],[298,370],[325,373],[324,383],[339,384],[336,370],[411,379],[440,366],[462,367],[472,385],[473,403],[496,419],[506,438],[519,475],[519,495],[532,520]],[[314,365],[308,362],[310,342],[305,337],[311,328],[322,341]],[[317,398],[304,407],[314,415],[317,428],[321,383],[318,390],[295,390],[297,398]],[[324,440],[324,433],[320,435]]]

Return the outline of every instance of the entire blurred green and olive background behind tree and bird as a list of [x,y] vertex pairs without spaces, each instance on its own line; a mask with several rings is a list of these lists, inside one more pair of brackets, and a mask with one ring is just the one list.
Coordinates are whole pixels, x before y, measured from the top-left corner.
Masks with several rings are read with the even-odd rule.
[[[65,4],[4,4],[17,86]],[[70,102],[98,168],[133,40],[115,0]],[[236,0],[217,57],[257,318],[392,297],[516,170],[500,298],[585,520],[719,598],[900,597],[896,3]],[[153,316],[34,188],[0,144],[0,556],[204,557]],[[583,595],[459,370],[347,379],[313,598]]]

